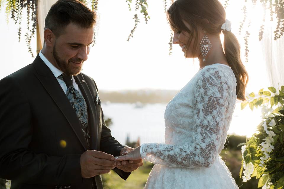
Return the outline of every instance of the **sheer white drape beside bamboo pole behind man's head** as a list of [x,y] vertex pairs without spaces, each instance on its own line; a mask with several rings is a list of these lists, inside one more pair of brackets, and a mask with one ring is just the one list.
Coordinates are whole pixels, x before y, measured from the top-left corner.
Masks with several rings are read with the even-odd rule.
[[43,30],[44,30],[44,20],[50,9],[50,7],[57,0],[38,0],[38,29],[41,39],[41,46],[43,46]]

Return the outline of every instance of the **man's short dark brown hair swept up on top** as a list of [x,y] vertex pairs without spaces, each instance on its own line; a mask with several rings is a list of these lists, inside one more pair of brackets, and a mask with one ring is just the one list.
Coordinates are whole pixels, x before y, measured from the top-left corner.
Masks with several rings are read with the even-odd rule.
[[45,18],[44,29],[49,28],[58,37],[70,23],[91,28],[96,24],[96,13],[78,0],[58,0]]

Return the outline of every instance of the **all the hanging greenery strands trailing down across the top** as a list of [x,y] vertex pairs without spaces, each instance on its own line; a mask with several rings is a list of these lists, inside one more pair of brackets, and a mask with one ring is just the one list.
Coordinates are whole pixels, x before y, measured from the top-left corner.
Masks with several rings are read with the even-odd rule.
[[[32,53],[32,48],[30,46],[30,41],[35,35],[35,30],[36,30],[36,25],[37,25],[37,0],[0,0],[0,11],[1,7],[4,6],[4,1],[6,1],[6,14],[7,14],[7,22],[9,19],[9,15],[11,14],[11,18],[14,20],[15,24],[19,23],[20,27],[18,29],[18,36],[19,40],[21,38],[21,21],[22,21],[22,10],[27,9],[27,28],[28,32],[25,34],[25,40],[29,49],[29,52],[33,56]],[[85,4],[91,3],[91,8],[94,11],[98,10],[98,1],[99,0],[79,0]],[[135,1],[135,14],[134,14],[134,27],[130,31],[130,34],[128,36],[128,41],[130,38],[133,38],[133,34],[138,26],[138,23],[140,22],[138,18],[137,11],[140,10],[140,12],[144,15],[145,22],[147,23],[148,20],[150,19],[149,14],[147,12],[148,4],[147,0],[134,0]],[[166,11],[167,9],[167,0],[162,0],[164,2],[164,10]],[[133,0],[126,0],[126,3],[128,3],[129,10],[131,10],[131,4]],[[174,2],[174,0],[170,0],[171,3]],[[225,8],[228,6],[230,0],[225,0]],[[270,11],[270,20],[273,21],[273,14],[276,14],[276,19],[277,19],[277,26],[274,31],[274,40],[279,39],[281,36],[283,36],[284,33],[284,1],[283,0],[251,0],[251,2],[256,5],[257,2],[262,3],[263,7],[265,10]],[[249,28],[251,21],[247,19],[247,3],[249,3],[248,0],[244,0],[244,6],[243,6],[243,21],[240,22],[240,27],[239,27],[239,33],[241,34],[243,30],[243,26],[246,24],[246,26]],[[266,11],[265,11],[266,12]],[[265,14],[262,18],[263,24],[260,26],[259,30],[259,40],[262,40],[263,38],[263,33],[264,33],[264,22],[265,22]],[[32,26],[30,27],[30,23]],[[95,31],[96,32],[96,31]],[[94,35],[94,43],[96,42],[96,35]],[[246,56],[246,61],[248,61],[248,56],[249,56],[249,37],[250,33],[247,30],[245,32],[245,56]],[[172,35],[170,37],[170,55],[171,55],[171,50],[172,50]]]

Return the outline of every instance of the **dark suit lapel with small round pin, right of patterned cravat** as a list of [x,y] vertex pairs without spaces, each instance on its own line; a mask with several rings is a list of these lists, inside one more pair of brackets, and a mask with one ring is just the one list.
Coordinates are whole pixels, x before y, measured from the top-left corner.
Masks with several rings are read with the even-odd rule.
[[[94,103],[93,95],[85,82],[85,79],[82,74],[78,74],[74,76],[76,83],[78,84],[83,97],[88,105],[88,127],[90,127],[90,149],[96,150],[98,149],[98,125],[97,125],[97,111]],[[96,94],[94,94],[96,96]]]

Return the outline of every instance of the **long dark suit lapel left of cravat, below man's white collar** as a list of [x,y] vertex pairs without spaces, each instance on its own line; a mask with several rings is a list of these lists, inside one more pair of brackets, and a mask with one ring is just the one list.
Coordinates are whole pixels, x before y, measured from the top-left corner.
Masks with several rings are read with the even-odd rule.
[[55,78],[49,67],[47,67],[46,64],[41,60],[39,55],[37,55],[37,57],[35,58],[33,66],[37,71],[37,73],[35,73],[35,76],[38,78],[43,87],[46,89],[51,98],[62,111],[63,115],[72,127],[84,149],[87,150],[88,144],[83,135],[80,126],[80,120],[78,119],[72,105],[70,104],[66,94],[59,85],[57,79]]

